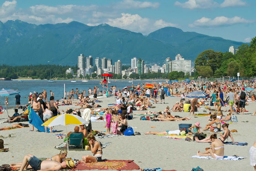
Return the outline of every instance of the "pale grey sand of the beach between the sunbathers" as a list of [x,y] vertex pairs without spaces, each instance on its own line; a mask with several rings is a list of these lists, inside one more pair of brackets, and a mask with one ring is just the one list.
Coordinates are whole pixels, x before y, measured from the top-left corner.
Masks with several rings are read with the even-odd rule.
[[[102,107],[107,107],[108,104],[114,103],[114,97],[102,98],[103,102],[100,103]],[[163,111],[167,106],[172,108],[176,101],[180,101],[180,97],[166,97],[166,104],[154,104],[156,108],[147,110],[150,111]],[[74,105],[68,106],[72,109],[76,107]],[[204,108],[204,106],[201,106]],[[213,106],[211,106],[213,108]],[[66,110],[67,106],[59,106],[60,111]],[[228,108],[226,107],[226,110]],[[223,110],[223,108],[222,108]],[[179,129],[180,123],[189,123],[194,125],[196,122],[200,122],[201,127],[205,127],[207,116],[201,116],[194,118],[189,121],[141,121],[140,116],[133,116],[132,120],[128,120],[128,124],[133,127],[134,132],[139,132],[141,135],[136,136],[118,136],[106,139],[98,139],[101,142],[111,142],[109,146],[103,149],[103,159],[117,159],[117,160],[134,160],[134,162],[140,166],[141,169],[153,169],[161,167],[165,170],[175,169],[177,171],[192,170],[193,167],[201,167],[204,171],[218,170],[218,171],[241,171],[241,170],[253,170],[250,166],[249,149],[250,146],[255,142],[256,127],[255,120],[256,116],[251,114],[255,111],[255,103],[250,103],[246,106],[244,115],[236,114],[238,122],[233,122],[229,125],[229,130],[236,129],[237,133],[232,133],[234,141],[236,142],[247,142],[248,145],[224,145],[224,155],[233,156],[238,155],[246,157],[245,159],[238,161],[227,161],[227,160],[216,160],[216,159],[198,159],[190,158],[197,154],[197,151],[205,151],[206,147],[210,147],[209,143],[197,143],[195,141],[185,141],[183,139],[169,139],[162,138],[158,135],[144,135],[148,131],[165,131],[165,130],[176,130]],[[134,111],[133,114],[141,113],[145,111]],[[209,110],[208,110],[209,112]],[[9,109],[9,115],[12,116],[14,113],[13,109]],[[18,113],[22,113],[19,110]],[[199,109],[199,114],[203,113],[203,109]],[[224,112],[226,115],[227,112]],[[172,115],[189,116],[189,112],[172,112]],[[104,116],[105,117],[105,116]],[[7,120],[6,112],[0,114],[0,122]],[[248,122],[242,122],[248,121]],[[23,122],[28,123],[28,122]],[[0,127],[11,125],[10,123],[1,123]],[[63,142],[63,139],[58,139],[54,134],[66,133],[64,126],[55,126],[57,133],[42,133],[38,131],[30,132],[31,124],[29,128],[19,128],[13,130],[0,131],[1,138],[4,140],[4,146],[9,147],[9,152],[1,152],[0,165],[11,164],[16,162],[22,162],[24,155],[33,154],[37,157],[51,157],[60,152],[60,149],[55,149],[56,145]],[[93,130],[106,131],[103,128],[105,122],[92,122]],[[75,125],[68,125],[68,131],[73,131]],[[151,128],[155,127],[155,128]],[[37,130],[37,129],[35,129]],[[222,129],[223,130],[223,129]],[[204,131],[205,134],[211,135],[213,133]],[[217,134],[219,138],[219,133]],[[228,138],[228,141],[231,141]],[[82,160],[83,155],[91,155],[90,151],[84,149],[71,149],[68,151],[68,156],[75,159]]]

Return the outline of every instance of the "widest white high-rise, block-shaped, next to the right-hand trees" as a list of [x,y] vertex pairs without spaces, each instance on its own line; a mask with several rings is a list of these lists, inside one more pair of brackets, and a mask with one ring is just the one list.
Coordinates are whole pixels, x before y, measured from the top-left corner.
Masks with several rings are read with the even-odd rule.
[[[179,56],[178,54],[177,56]],[[181,58],[178,58],[179,60],[172,61],[172,71],[182,71],[185,74],[189,73],[191,75],[191,61],[190,60],[184,60],[182,56]],[[175,58],[176,59],[176,58]]]

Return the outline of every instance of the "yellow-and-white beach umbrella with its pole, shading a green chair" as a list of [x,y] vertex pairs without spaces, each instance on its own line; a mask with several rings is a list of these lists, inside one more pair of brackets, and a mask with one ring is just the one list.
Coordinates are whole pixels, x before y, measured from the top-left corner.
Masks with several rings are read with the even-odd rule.
[[[67,125],[69,124],[82,125],[82,124],[89,124],[89,123],[83,118],[81,118],[80,116],[77,116],[75,114],[61,114],[49,119],[48,121],[43,123],[42,126],[57,126],[57,125],[66,126],[66,133],[68,135]],[[69,150],[68,137],[67,137],[67,149]]]

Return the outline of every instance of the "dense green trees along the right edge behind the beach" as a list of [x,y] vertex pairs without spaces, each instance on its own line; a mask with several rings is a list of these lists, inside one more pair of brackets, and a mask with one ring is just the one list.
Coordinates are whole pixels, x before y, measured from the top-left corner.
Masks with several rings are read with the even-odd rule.
[[205,77],[240,77],[256,76],[256,37],[250,43],[238,47],[237,53],[205,50],[195,60],[194,78]]

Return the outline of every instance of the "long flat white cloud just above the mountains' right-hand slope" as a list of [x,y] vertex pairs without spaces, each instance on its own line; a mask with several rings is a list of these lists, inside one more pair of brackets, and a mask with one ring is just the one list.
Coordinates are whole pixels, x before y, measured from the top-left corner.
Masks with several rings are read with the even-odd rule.
[[189,24],[189,27],[214,27],[214,26],[229,26],[234,24],[244,24],[253,22],[251,20],[247,20],[241,17],[216,17],[214,19],[202,17],[193,22],[193,24]]

